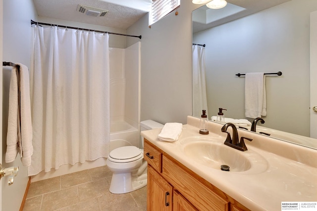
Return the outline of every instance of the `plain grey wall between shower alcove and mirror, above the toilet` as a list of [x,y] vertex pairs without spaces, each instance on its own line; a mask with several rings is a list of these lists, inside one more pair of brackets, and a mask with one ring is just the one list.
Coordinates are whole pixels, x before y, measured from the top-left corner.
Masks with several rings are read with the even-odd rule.
[[[192,115],[192,10],[199,5],[181,0],[175,12],[148,27],[148,15],[127,29],[142,35],[141,121],[186,123]],[[138,42],[129,38],[127,45]]]

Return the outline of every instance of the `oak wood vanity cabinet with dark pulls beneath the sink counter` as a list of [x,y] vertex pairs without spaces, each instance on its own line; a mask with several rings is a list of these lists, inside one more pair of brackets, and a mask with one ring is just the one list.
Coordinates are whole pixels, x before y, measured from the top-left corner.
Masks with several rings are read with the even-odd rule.
[[148,161],[148,211],[248,211],[146,139],[144,158]]

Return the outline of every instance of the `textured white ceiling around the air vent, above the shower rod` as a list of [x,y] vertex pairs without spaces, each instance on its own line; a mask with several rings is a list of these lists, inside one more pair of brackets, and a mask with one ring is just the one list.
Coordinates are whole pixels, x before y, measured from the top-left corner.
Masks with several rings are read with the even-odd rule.
[[[117,0],[117,2],[124,2]],[[132,0],[130,0],[131,2]],[[151,0],[133,0],[144,5],[151,5]],[[127,29],[148,11],[146,7],[141,9],[109,3],[105,0],[33,0],[39,16],[57,18],[80,23],[96,24],[119,29]],[[109,10],[104,17],[93,17],[76,11],[78,4]]]

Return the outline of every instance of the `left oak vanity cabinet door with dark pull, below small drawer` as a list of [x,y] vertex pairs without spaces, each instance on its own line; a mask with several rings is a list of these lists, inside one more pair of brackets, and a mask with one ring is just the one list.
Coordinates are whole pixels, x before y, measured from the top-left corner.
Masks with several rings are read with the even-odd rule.
[[173,187],[148,165],[148,211],[172,211]]

